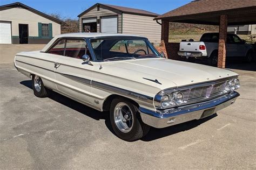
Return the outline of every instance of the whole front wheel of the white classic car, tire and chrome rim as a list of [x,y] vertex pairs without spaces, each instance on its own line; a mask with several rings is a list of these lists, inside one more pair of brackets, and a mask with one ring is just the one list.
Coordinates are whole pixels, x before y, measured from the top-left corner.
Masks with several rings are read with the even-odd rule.
[[117,137],[134,141],[144,137],[150,126],[142,122],[138,108],[125,98],[115,98],[110,107],[110,122]]

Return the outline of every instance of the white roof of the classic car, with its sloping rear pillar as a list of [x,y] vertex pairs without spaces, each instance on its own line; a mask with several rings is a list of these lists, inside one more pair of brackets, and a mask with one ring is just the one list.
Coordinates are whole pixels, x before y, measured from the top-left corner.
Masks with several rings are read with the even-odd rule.
[[47,51],[47,49],[59,38],[66,38],[66,37],[72,37],[72,38],[100,38],[100,37],[139,37],[139,38],[146,38],[142,36],[134,36],[129,34],[119,34],[119,33],[96,33],[96,32],[86,32],[86,33],[67,33],[67,34],[60,34],[58,36],[55,36],[53,39],[51,39],[48,44],[41,50],[41,52]]

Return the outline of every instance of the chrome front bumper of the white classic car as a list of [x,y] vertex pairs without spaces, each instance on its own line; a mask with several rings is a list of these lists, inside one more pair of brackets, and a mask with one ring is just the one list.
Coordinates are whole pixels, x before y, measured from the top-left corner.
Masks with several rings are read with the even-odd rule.
[[194,119],[201,119],[213,115],[218,110],[233,104],[239,93],[233,92],[213,100],[186,105],[175,109],[166,109],[163,111],[153,111],[140,107],[139,112],[142,121],[154,128],[165,128]]

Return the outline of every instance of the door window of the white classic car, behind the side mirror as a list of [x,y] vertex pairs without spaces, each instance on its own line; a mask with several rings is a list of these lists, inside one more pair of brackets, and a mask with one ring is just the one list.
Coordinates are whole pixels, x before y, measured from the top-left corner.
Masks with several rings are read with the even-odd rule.
[[[65,48],[65,56],[69,56],[71,58],[82,59],[84,54],[89,55],[89,51],[87,51],[86,42],[83,39],[67,39],[66,40],[66,48]],[[89,55],[90,56],[90,55]]]

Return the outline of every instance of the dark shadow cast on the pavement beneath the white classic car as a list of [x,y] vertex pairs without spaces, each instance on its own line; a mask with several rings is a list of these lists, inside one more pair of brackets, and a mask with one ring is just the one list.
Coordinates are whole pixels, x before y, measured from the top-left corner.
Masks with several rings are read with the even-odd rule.
[[[23,86],[32,89],[31,80],[22,81],[20,83]],[[113,134],[115,134],[111,127],[111,123],[110,123],[110,119],[109,119],[109,112],[100,112],[98,110],[92,109],[90,107],[87,107],[84,104],[81,104],[79,102],[76,102],[76,101],[68,98],[68,97],[60,95],[60,94],[56,93],[55,91],[51,91],[49,98],[53,101],[56,101],[60,104],[65,105],[66,107],[76,110],[83,115],[89,116],[90,118],[95,119],[97,121],[99,121],[100,119],[104,119],[107,129],[109,129]],[[207,122],[208,120],[210,120],[216,116],[218,116],[218,115],[213,114],[212,116],[206,117],[204,119],[185,122],[185,123],[170,126],[168,128],[164,128],[164,129],[156,129],[156,128],[151,127],[149,133],[147,133],[147,135],[140,140],[151,141],[151,140],[156,140],[156,139],[163,138],[166,136],[170,136],[175,133],[190,130],[192,128],[196,128],[200,124]]]

